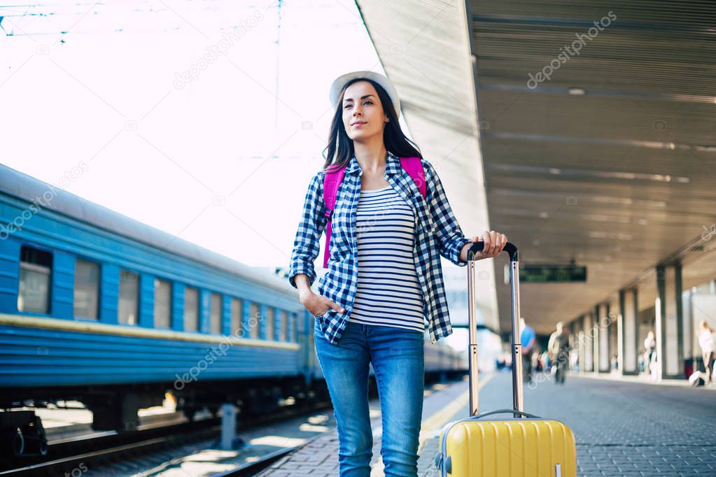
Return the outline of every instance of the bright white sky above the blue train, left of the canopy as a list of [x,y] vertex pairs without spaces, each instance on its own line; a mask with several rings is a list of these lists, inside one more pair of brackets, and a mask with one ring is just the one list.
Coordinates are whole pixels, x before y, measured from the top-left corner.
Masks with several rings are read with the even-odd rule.
[[4,164],[253,266],[288,266],[332,80],[384,73],[353,1],[54,0],[0,16]]

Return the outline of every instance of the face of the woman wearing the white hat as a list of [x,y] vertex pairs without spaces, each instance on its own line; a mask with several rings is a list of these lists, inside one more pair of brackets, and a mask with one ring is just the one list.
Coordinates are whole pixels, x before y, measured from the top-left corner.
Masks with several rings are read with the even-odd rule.
[[383,137],[386,114],[372,84],[359,81],[347,87],[343,95],[343,126],[348,137],[364,141],[379,134]]

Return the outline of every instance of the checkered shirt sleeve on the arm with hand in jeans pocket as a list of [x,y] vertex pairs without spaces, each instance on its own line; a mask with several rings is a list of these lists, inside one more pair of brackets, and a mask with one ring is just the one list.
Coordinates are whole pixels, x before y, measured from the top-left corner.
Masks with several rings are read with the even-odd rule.
[[289,283],[296,286],[296,275],[305,273],[309,277],[309,285],[316,280],[314,261],[320,250],[321,233],[326,227],[326,205],[323,202],[323,175],[317,172],[309,182],[308,190],[301,212],[294,250],[291,252],[289,264]]

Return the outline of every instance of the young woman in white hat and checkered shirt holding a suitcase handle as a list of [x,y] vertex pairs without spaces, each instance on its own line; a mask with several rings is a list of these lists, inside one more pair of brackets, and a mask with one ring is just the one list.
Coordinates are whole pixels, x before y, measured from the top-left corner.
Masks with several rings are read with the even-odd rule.
[[[480,260],[499,255],[507,237],[495,231],[463,236],[435,169],[400,129],[400,99],[386,77],[344,74],[330,97],[328,154],[306,192],[289,282],[316,317],[316,355],[334,406],[340,475],[370,475],[372,364],[385,475],[416,476],[425,321],[432,343],[452,333],[440,255],[465,266],[472,242],[485,242],[475,257]],[[420,157],[425,200],[400,157]],[[328,220],[323,180],[329,166],[345,167],[345,175],[332,215],[328,270],[316,294],[313,263]]]

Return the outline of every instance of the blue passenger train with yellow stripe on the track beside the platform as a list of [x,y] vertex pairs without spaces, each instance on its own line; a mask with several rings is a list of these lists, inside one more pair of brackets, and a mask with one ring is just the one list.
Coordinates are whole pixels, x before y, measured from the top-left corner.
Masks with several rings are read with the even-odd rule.
[[[425,349],[426,373],[465,368]],[[245,415],[326,399],[321,380],[313,318],[285,277],[0,165],[1,408],[79,400],[93,428],[123,431],[167,392],[189,417],[222,403]],[[17,415],[0,413],[15,453],[42,432]]]

